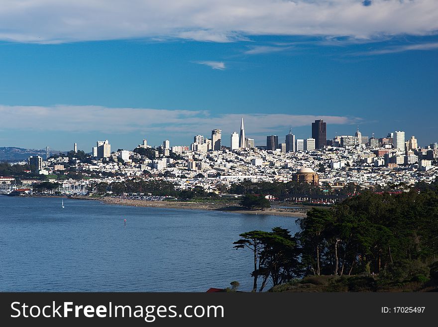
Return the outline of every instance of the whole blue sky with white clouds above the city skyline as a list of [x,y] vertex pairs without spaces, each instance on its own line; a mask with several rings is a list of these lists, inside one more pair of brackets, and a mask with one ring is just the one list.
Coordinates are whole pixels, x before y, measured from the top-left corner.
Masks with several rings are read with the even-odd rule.
[[241,116],[257,145],[318,118],[438,141],[438,1],[6,2],[0,146],[228,145]]

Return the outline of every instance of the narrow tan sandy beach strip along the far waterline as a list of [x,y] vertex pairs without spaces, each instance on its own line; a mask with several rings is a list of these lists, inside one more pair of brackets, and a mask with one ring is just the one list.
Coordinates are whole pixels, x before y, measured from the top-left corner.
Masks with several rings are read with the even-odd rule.
[[227,213],[249,214],[249,215],[270,215],[281,217],[303,218],[306,217],[307,210],[297,209],[264,209],[264,210],[247,210],[237,206],[223,206],[220,204],[195,203],[195,202],[168,202],[168,201],[146,201],[146,200],[130,200],[118,199],[111,197],[89,198],[89,197],[71,197],[75,200],[93,200],[102,201],[109,205],[121,205],[130,207],[150,207],[150,208],[167,208],[167,209],[184,209],[184,210],[213,210],[223,211]]

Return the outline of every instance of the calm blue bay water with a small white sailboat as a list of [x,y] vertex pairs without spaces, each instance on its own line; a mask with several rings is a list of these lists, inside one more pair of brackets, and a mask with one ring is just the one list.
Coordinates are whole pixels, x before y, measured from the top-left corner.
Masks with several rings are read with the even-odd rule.
[[[250,290],[239,233],[295,218],[0,196],[0,291]],[[123,219],[126,218],[126,226]]]

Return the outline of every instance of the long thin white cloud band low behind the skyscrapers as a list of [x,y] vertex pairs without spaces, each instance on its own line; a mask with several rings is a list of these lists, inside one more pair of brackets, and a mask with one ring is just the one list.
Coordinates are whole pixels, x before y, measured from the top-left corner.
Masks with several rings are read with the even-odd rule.
[[289,127],[310,125],[315,119],[328,124],[356,124],[361,118],[344,116],[296,115],[284,113],[212,115],[208,110],[167,110],[106,108],[100,106],[2,106],[0,117],[7,124],[0,130],[49,132],[169,133],[170,135],[206,135],[221,128],[224,135],[238,130],[244,118],[248,135],[268,135]]

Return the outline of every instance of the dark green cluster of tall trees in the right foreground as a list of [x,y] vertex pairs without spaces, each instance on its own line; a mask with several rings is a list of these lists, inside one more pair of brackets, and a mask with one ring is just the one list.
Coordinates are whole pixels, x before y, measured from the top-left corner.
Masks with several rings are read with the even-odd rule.
[[402,194],[366,191],[329,209],[313,208],[296,220],[295,235],[281,227],[240,234],[234,247],[252,252],[253,290],[262,291],[268,280],[276,286],[309,275],[428,280],[438,260],[438,182],[420,186]]

